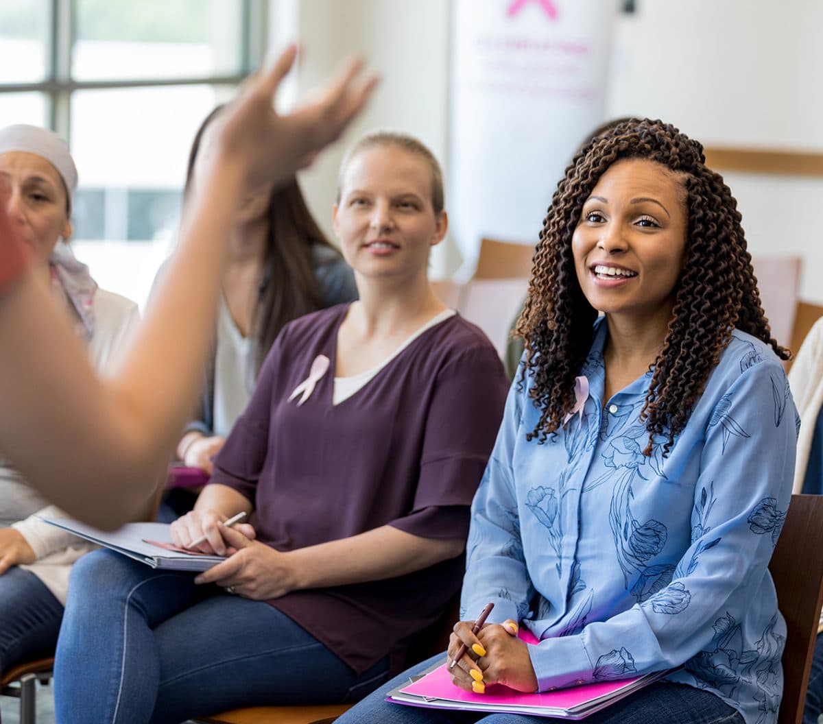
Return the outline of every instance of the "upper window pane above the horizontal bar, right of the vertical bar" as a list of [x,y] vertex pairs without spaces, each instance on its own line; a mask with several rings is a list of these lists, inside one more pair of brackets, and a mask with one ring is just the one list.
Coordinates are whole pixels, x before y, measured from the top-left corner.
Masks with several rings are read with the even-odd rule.
[[75,0],[72,77],[188,78],[243,65],[240,0]]

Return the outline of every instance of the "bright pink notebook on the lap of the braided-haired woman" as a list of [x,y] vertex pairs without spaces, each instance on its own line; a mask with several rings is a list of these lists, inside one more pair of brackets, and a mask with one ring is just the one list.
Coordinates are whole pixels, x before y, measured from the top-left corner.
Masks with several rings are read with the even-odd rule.
[[[520,638],[526,643],[537,643],[537,638],[526,629],[520,630]],[[486,688],[486,694],[474,694],[453,685],[446,664],[442,664],[413,684],[395,689],[387,700],[417,707],[583,719],[667,673],[658,671],[632,679],[575,686],[542,694],[523,694],[503,685],[491,685]]]

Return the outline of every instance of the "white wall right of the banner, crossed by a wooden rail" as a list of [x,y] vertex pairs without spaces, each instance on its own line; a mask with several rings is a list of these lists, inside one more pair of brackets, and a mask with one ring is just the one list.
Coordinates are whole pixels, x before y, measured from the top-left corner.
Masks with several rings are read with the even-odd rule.
[[[616,26],[610,118],[663,118],[704,146],[823,151],[817,0],[638,0]],[[724,174],[751,253],[799,254],[823,304],[823,179]]]

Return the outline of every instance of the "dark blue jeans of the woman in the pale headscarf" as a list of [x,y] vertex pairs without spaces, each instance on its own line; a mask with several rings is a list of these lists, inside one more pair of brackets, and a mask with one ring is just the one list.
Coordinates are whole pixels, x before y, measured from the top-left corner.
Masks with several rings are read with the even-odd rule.
[[12,566],[0,576],[0,672],[50,657],[63,605],[34,573]]

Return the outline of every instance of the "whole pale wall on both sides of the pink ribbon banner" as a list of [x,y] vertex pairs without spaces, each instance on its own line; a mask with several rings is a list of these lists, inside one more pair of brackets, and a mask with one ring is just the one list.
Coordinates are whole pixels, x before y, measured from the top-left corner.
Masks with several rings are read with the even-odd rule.
[[[346,140],[374,126],[399,126],[445,163],[450,0],[271,2],[272,29],[288,26],[278,21],[277,8],[291,7],[291,37],[306,44],[301,86],[314,85],[351,50],[365,52],[383,72],[374,103]],[[705,146],[821,152],[821,25],[818,0],[637,0],[635,15],[616,24],[607,118],[664,118]],[[338,146],[306,174],[309,202],[324,222],[341,153]],[[823,269],[823,232],[816,224],[823,180],[727,174],[727,181],[752,253],[801,254],[801,296],[823,304],[823,285],[816,282],[816,270]],[[453,271],[455,254],[435,258],[435,272]]]

